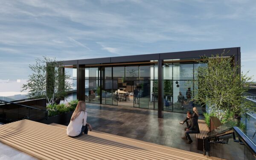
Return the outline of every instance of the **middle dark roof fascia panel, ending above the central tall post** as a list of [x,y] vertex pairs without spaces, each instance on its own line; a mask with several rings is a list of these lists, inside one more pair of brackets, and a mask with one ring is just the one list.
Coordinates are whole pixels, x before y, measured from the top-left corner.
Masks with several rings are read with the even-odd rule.
[[148,55],[129,55],[122,57],[111,57],[111,63],[124,63],[124,62],[136,62],[136,61],[150,61],[159,59],[159,54]]

